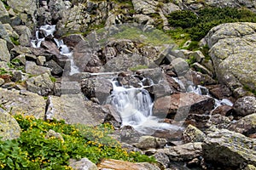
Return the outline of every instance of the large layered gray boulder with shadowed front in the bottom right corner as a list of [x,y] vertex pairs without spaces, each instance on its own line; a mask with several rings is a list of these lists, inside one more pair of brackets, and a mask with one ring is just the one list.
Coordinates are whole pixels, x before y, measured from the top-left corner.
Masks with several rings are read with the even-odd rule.
[[256,165],[256,141],[226,129],[207,134],[202,144],[205,161],[236,169],[244,164]]

